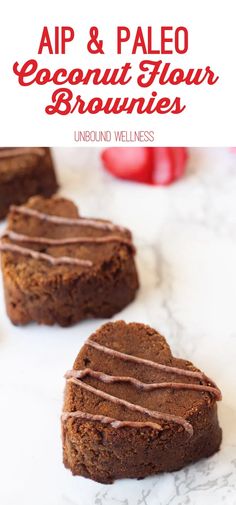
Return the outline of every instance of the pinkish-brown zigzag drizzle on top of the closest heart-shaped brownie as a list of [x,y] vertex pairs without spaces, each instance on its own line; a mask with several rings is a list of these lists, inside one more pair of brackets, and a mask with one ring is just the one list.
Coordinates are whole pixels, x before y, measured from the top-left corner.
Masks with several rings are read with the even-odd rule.
[[[125,377],[125,376],[114,376],[114,375],[108,375],[100,371],[95,371],[92,370],[91,368],[85,368],[83,370],[70,370],[65,374],[65,377],[68,382],[75,384],[87,391],[90,391],[91,393],[108,400],[112,403],[120,404],[123,405],[124,407],[128,408],[129,410],[135,411],[135,412],[140,412],[144,415],[147,415],[148,417],[151,417],[153,419],[157,420],[162,420],[166,422],[173,422],[176,423],[184,428],[184,430],[189,434],[189,436],[193,435],[193,427],[192,425],[186,421],[183,417],[180,416],[175,416],[172,414],[168,414],[165,412],[158,412],[158,411],[153,411],[146,409],[140,405],[133,404],[131,402],[128,402],[122,398],[118,398],[116,396],[113,396],[111,394],[106,393],[105,391],[102,391],[98,388],[95,388],[91,386],[90,384],[87,384],[86,382],[83,382],[83,379],[86,377],[92,377],[95,378],[98,381],[104,382],[106,384],[115,384],[115,383],[128,383],[131,386],[134,386],[137,389],[143,390],[143,391],[154,391],[158,389],[174,389],[174,390],[194,390],[194,391],[199,391],[203,393],[209,393],[213,394],[216,400],[221,400],[221,392],[218,389],[218,387],[215,385],[215,383],[210,380],[205,374],[201,372],[194,372],[192,370],[185,370],[182,368],[177,368],[177,367],[171,367],[164,365],[162,363],[157,363],[154,361],[150,361],[147,359],[140,358],[138,356],[132,356],[129,354],[125,354],[119,351],[116,351],[114,349],[111,349],[109,347],[103,346],[98,344],[97,342],[94,342],[93,340],[88,339],[86,341],[86,345],[89,345],[99,351],[105,352],[109,354],[110,356],[122,359],[122,360],[127,360],[131,361],[134,363],[139,363],[145,366],[151,366],[155,369],[162,370],[165,373],[172,373],[176,375],[182,375],[185,377],[191,377],[194,379],[198,379],[201,382],[206,381],[207,383],[210,383],[211,385],[208,384],[192,384],[192,383],[183,383],[183,382],[160,382],[160,383],[144,383],[141,382],[134,377]],[[74,412],[64,412],[62,416],[62,421],[66,421],[68,418],[74,417],[78,419],[85,419],[88,421],[94,421],[94,422],[102,422],[106,424],[110,424],[112,427],[151,427],[153,429],[156,429],[160,431],[163,429],[160,427],[160,425],[157,425],[156,423],[153,422],[138,422],[138,421],[120,421],[120,420],[115,420],[110,417],[106,416],[101,416],[101,415],[94,415],[90,413],[85,413],[81,411],[74,411]]]

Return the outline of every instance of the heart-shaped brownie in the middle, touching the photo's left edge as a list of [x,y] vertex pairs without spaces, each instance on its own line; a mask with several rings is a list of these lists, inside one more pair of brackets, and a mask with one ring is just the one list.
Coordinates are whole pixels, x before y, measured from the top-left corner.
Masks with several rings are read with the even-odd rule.
[[14,324],[69,326],[110,317],[138,288],[131,233],[110,221],[79,217],[64,198],[36,196],[12,206],[0,250]]

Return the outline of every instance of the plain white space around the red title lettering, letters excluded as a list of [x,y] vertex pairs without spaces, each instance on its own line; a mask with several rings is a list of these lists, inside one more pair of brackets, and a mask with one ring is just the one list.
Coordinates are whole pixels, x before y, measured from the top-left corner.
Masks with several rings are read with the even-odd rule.
[[[55,145],[73,146],[75,130],[154,130],[156,145],[222,146],[236,144],[235,128],[235,2],[234,0],[165,0],[162,2],[56,0],[4,3],[0,16],[0,127],[1,145]],[[37,56],[40,35],[44,25],[69,25],[76,30],[76,39],[69,45],[64,56]],[[104,40],[106,55],[91,56],[85,51],[89,27],[97,25]],[[51,103],[53,85],[21,87],[13,75],[15,61],[23,63],[37,58],[40,66],[56,69],[60,66],[104,67],[121,66],[125,61],[134,65],[142,54],[130,56],[131,46],[123,56],[115,56],[115,29],[117,25],[154,30],[154,45],[158,45],[161,25],[185,25],[189,29],[189,51],[186,55],[166,55],[162,59],[173,65],[205,67],[210,65],[220,76],[217,84],[208,86],[151,87],[147,94],[156,90],[161,96],[182,97],[186,110],[180,115],[105,116],[79,115],[48,116],[44,112]],[[157,42],[156,42],[157,41]],[[82,43],[82,47],[80,45]],[[83,47],[84,44],[84,47]],[[144,55],[144,58],[146,56]],[[151,57],[152,58],[152,57]],[[155,59],[155,56],[154,56]],[[159,56],[156,57],[159,59]],[[136,63],[135,63],[136,62]],[[126,90],[120,86],[78,86],[75,94],[85,100],[96,96],[140,96],[135,81]],[[128,92],[128,93],[127,93]]]

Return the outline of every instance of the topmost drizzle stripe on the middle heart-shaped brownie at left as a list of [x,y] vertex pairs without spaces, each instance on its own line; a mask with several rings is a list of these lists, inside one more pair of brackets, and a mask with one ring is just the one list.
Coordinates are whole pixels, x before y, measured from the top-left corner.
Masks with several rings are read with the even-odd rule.
[[35,217],[40,219],[40,221],[47,221],[49,223],[54,223],[58,225],[66,225],[66,226],[91,226],[92,228],[98,228],[100,230],[107,231],[120,231],[120,232],[128,232],[127,228],[123,226],[117,226],[110,221],[102,221],[99,219],[87,219],[87,218],[68,218],[62,216],[54,216],[51,214],[46,214],[44,212],[40,212],[36,209],[31,209],[29,207],[24,207],[23,205],[17,207],[16,205],[12,205],[10,207],[11,212],[16,212],[18,214],[23,214],[24,216]]

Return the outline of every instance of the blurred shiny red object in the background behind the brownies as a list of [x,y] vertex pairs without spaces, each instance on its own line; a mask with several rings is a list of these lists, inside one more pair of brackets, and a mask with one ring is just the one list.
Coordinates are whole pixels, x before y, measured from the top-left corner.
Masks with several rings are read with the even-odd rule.
[[109,147],[101,158],[115,177],[165,186],[184,174],[188,151],[186,147]]

